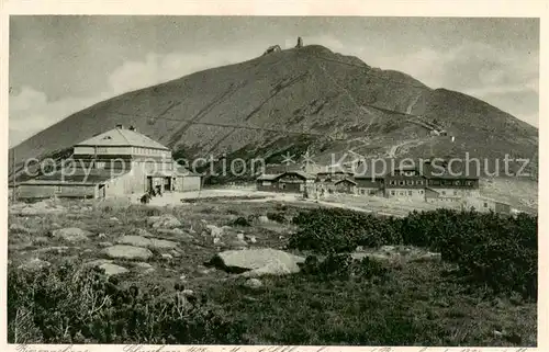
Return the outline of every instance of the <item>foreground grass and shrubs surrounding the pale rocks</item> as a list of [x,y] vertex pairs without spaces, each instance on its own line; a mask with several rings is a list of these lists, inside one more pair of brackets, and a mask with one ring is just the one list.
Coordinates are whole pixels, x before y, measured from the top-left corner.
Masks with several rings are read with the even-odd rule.
[[[262,285],[254,288],[245,277],[219,272],[193,281],[191,268],[215,252],[206,241],[182,243],[186,254],[179,261],[153,259],[157,271],[148,276],[108,277],[72,256],[46,258],[55,265],[38,272],[10,264],[9,341],[536,345],[536,217],[437,211],[395,219],[212,200],[191,207],[105,207],[77,220],[63,215],[30,222],[44,231],[53,220],[61,226],[78,222],[110,240],[163,212],[186,228],[198,229],[202,219],[238,227],[257,235],[257,246],[288,245],[307,260],[299,274],[262,276]],[[260,225],[258,214],[271,223]],[[121,224],[98,223],[111,216]],[[266,227],[292,232],[281,237]],[[16,236],[10,232],[10,243]],[[357,246],[383,245],[428,248],[442,261],[354,260],[349,254]],[[10,251],[10,260],[16,262],[18,256],[23,254]],[[188,283],[179,280],[182,268]],[[189,296],[184,288],[194,293]]]

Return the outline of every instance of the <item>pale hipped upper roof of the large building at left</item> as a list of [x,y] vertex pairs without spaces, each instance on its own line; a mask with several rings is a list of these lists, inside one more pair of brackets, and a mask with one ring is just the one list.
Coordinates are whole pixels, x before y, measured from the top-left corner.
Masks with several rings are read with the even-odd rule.
[[100,135],[80,141],[76,146],[100,146],[100,147],[132,146],[132,147],[169,150],[168,147],[163,146],[158,141],[153,140],[149,137],[142,135],[141,133],[125,128],[110,129]]

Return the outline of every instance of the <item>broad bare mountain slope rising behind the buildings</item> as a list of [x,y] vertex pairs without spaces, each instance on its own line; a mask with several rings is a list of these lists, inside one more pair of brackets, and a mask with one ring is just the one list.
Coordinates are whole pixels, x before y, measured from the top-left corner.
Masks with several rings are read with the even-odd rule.
[[[428,137],[425,127],[407,121],[410,116],[390,111],[436,120],[456,141]],[[287,150],[302,154],[307,147],[320,162],[348,149],[369,156],[469,151],[485,158],[531,158],[538,135],[535,127],[480,100],[433,90],[402,72],[371,68],[356,57],[310,45],[100,102],[16,146],[18,161],[58,152],[117,123],[135,125],[188,158],[226,152],[272,161]],[[274,132],[203,125],[209,123]]]

